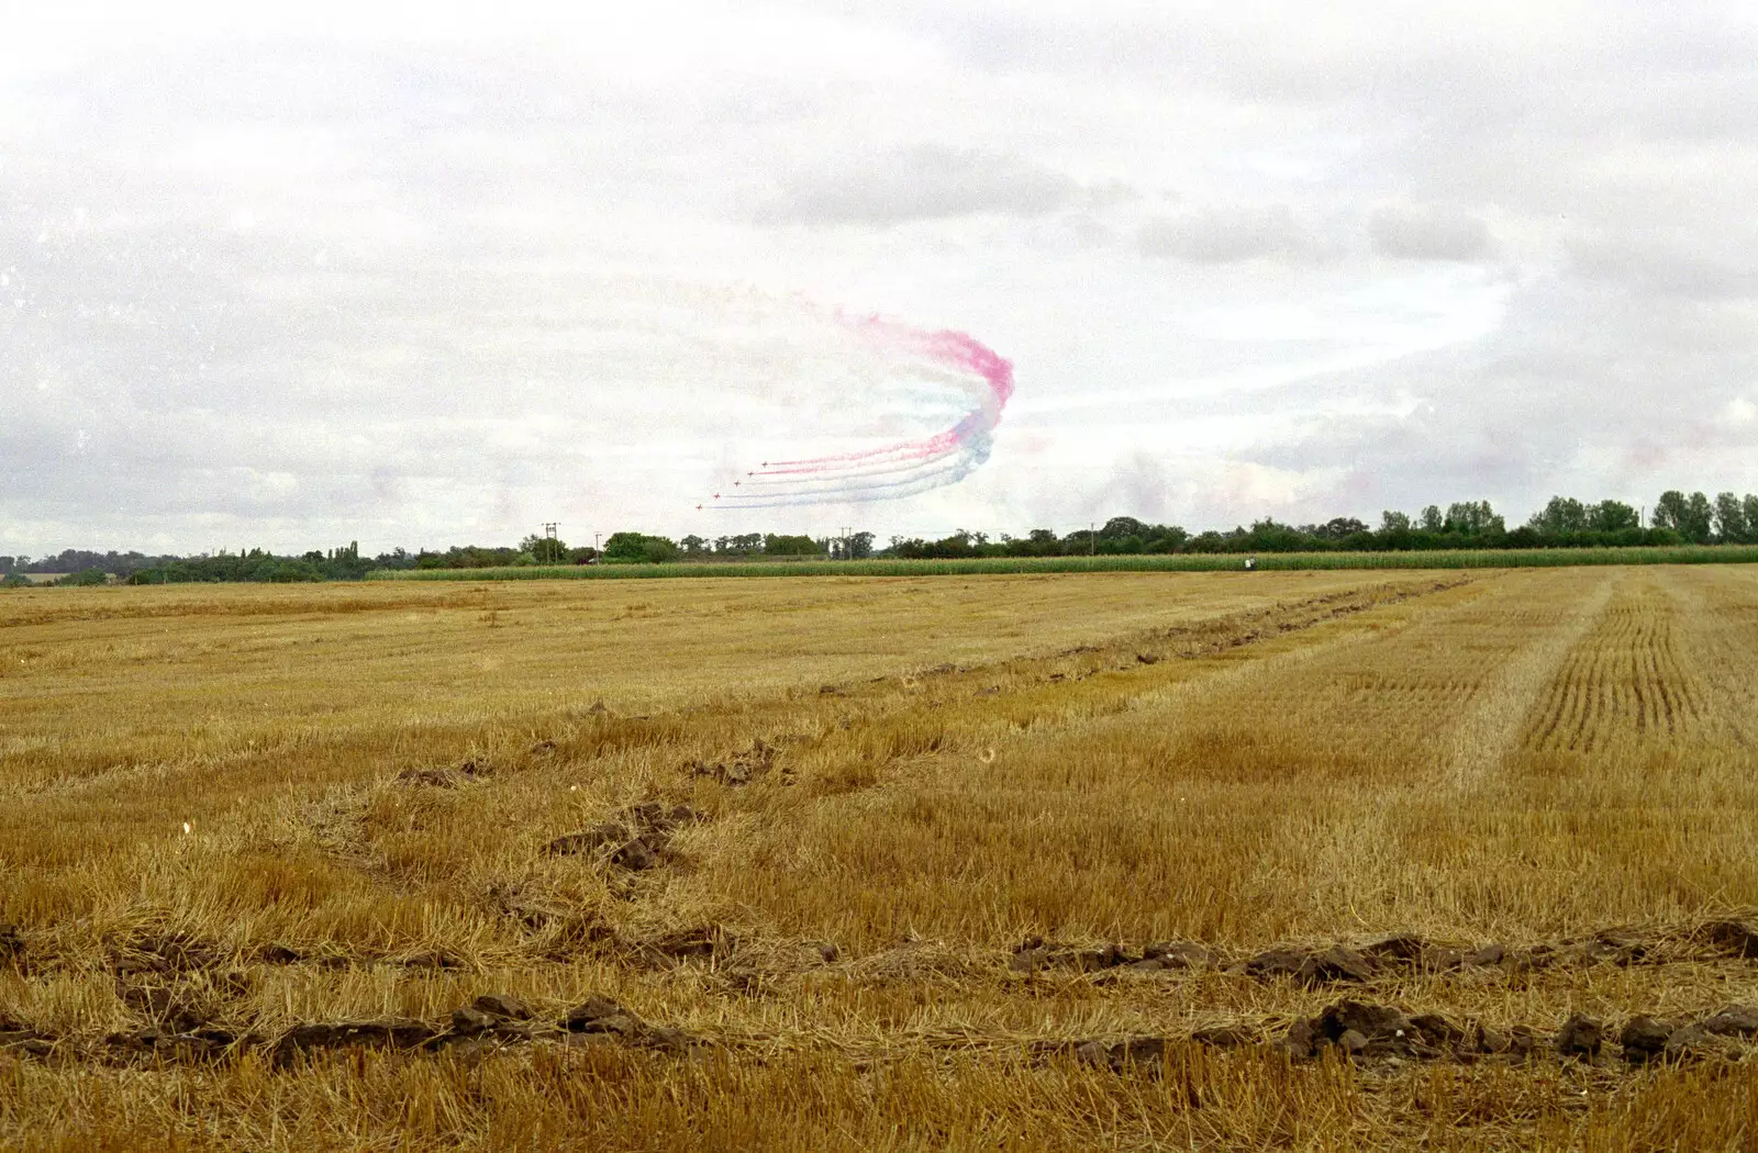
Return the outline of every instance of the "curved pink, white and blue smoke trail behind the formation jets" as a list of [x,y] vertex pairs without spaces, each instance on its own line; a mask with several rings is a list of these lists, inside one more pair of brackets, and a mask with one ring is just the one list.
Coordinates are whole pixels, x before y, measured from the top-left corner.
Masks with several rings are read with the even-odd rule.
[[879,316],[840,318],[863,339],[897,357],[949,371],[948,381],[965,402],[953,427],[879,448],[798,460],[765,460],[730,492],[714,496],[716,508],[775,508],[888,501],[969,476],[988,460],[1007,397],[1013,364],[965,332],[912,329]]

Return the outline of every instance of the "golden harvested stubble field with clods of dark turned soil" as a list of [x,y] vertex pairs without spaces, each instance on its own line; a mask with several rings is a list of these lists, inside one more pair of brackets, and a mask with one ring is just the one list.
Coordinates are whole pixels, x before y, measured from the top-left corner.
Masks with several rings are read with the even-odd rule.
[[0,1146],[1751,1149],[1754,749],[1742,566],[11,592]]

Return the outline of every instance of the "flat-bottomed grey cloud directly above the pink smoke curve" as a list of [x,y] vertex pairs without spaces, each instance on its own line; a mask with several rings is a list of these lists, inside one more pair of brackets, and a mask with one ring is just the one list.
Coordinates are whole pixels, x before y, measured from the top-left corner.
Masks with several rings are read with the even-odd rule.
[[1081,185],[1009,153],[914,144],[826,160],[763,204],[761,223],[895,225],[976,213],[1041,216],[1076,204]]

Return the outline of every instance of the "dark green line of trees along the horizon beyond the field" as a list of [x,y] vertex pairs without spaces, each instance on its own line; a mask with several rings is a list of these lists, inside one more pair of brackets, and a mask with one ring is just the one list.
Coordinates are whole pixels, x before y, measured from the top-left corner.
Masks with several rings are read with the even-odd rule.
[[[1644,524],[1644,518],[1647,524]],[[872,533],[807,536],[745,533],[717,538],[672,540],[649,533],[612,533],[603,548],[570,547],[554,536],[526,536],[515,547],[454,545],[445,550],[406,552],[394,548],[362,557],[359,541],[299,555],[276,555],[264,548],[192,557],[146,555],[141,552],[90,552],[69,548],[47,557],[0,555],[0,587],[32,584],[25,573],[67,573],[58,584],[218,584],[218,582],[318,582],[360,580],[371,569],[505,568],[531,564],[666,564],[675,561],[784,561],[796,557],[860,561],[867,557],[958,559],[958,557],[1065,557],[1169,552],[1408,552],[1431,548],[1593,548],[1663,545],[1751,545],[1758,543],[1758,494],[1737,496],[1668,489],[1653,513],[1623,501],[1582,503],[1554,496],[1526,524],[1514,529],[1489,501],[1461,501],[1442,510],[1429,504],[1410,515],[1380,513],[1378,526],[1354,517],[1322,524],[1282,524],[1273,518],[1231,531],[1188,533],[1180,526],[1148,524],[1134,517],[1111,517],[1104,526],[1057,534],[1032,529],[1025,536],[958,529],[926,540],[893,536],[874,547]]]

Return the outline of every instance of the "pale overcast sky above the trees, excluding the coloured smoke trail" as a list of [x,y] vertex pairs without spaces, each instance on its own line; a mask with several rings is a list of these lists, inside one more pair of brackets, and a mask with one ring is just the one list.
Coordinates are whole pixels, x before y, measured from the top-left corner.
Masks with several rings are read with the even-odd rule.
[[[1754,60],[1689,0],[7,4],[0,552],[1758,490]],[[867,316],[1013,362],[986,460],[716,508],[956,418]]]

